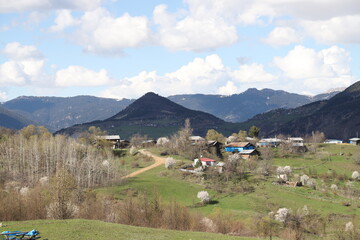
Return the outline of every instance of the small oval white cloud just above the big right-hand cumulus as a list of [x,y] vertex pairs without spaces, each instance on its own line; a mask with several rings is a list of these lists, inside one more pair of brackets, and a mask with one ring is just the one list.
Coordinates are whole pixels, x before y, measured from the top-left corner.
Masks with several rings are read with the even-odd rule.
[[284,46],[300,41],[300,35],[290,27],[276,27],[270,32],[269,36],[264,39],[265,43],[272,46]]

